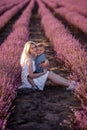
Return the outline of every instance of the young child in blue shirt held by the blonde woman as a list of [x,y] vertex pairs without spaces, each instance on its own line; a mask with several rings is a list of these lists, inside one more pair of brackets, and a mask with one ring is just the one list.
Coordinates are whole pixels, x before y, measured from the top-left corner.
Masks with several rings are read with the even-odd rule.
[[37,57],[35,58],[36,73],[43,72],[43,69],[47,69],[49,65],[44,52],[45,52],[45,46],[42,43],[38,43]]

